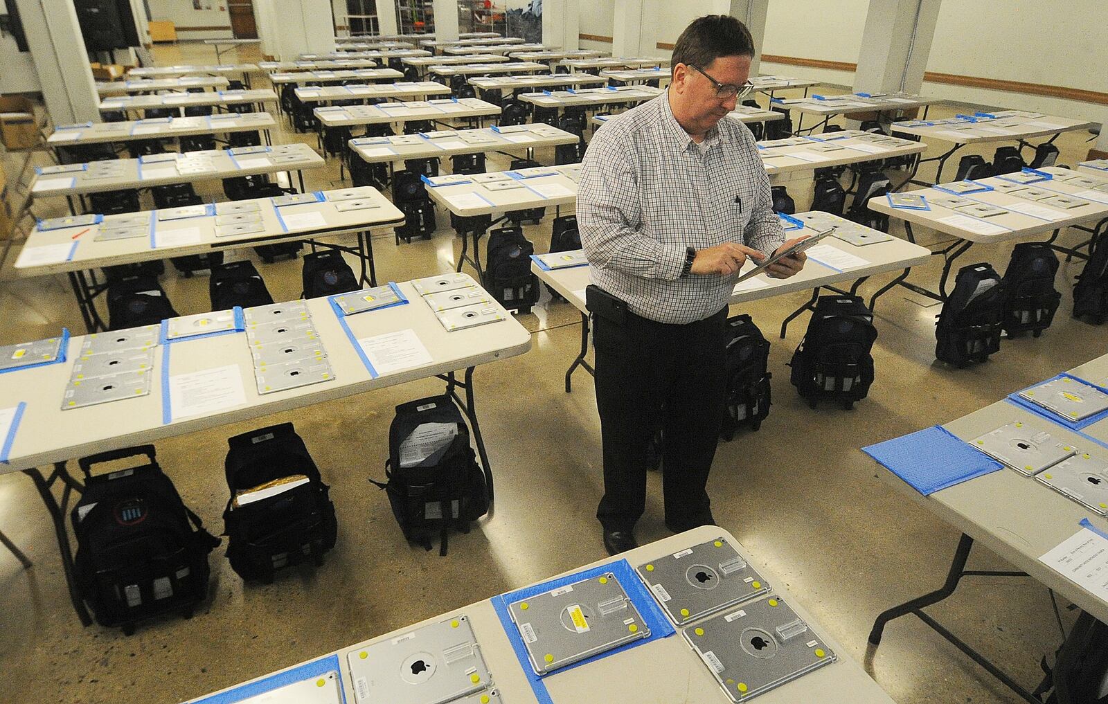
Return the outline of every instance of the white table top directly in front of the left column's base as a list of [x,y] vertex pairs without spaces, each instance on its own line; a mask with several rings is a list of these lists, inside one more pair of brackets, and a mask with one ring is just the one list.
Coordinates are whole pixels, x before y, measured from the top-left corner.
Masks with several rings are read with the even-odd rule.
[[93,122],[59,125],[47,137],[51,146],[104,144],[131,139],[187,137],[197,134],[227,134],[270,130],[276,123],[269,113],[216,113],[194,117],[156,117],[129,122]]

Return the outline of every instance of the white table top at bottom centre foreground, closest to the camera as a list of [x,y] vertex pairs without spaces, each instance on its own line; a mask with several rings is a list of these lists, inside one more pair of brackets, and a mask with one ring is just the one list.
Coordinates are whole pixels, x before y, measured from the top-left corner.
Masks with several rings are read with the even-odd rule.
[[[663,538],[616,558],[597,560],[561,577],[581,573],[584,570],[611,565],[618,560],[626,560],[632,568],[635,568],[715,539],[730,543],[747,563],[751,565],[766,582],[772,586],[774,596],[791,607],[811,631],[819,635],[838,656],[838,662],[819,667],[759,695],[757,697],[759,704],[798,704],[801,702],[893,704],[889,695],[848,655],[843,644],[831,638],[827,629],[813,621],[811,613],[804,609],[803,604],[788,592],[784,588],[786,580],[767,568],[763,561],[751,555],[722,528],[706,526]],[[546,581],[548,580],[543,580],[543,582]],[[492,684],[503,702],[505,704],[537,704],[538,700],[524,675],[523,667],[526,665],[521,665],[516,659],[512,644],[504,633],[504,627],[490,599],[334,651],[331,654],[337,655],[339,675],[343,691],[347,693],[347,701],[355,701],[350,693],[356,691],[347,663],[349,655],[362,651],[371,643],[398,639],[414,628],[448,621],[460,615],[464,615],[472,627],[481,655],[492,675]],[[624,652],[601,656],[576,667],[556,671],[545,676],[542,682],[554,704],[593,704],[595,702],[605,702],[606,704],[670,704],[676,702],[726,704],[730,702],[705,662],[685,642],[679,630],[668,638],[657,638]],[[460,701],[478,701],[475,696],[474,698],[463,697]]]

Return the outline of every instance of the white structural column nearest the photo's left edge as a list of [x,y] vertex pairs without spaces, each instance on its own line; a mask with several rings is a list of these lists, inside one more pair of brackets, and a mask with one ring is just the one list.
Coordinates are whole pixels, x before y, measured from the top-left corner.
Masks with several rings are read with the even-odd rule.
[[42,96],[55,125],[100,122],[84,37],[71,0],[17,0]]

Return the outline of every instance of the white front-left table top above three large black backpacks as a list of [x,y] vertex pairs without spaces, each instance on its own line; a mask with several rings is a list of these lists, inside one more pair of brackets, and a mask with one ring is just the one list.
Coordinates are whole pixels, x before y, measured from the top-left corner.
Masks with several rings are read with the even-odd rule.
[[[78,358],[84,340],[83,337],[71,338],[66,362],[0,374],[0,398],[27,403],[11,446],[9,464],[0,465],[0,473],[343,398],[522,354],[531,349],[531,335],[511,314],[505,313],[504,320],[494,323],[448,332],[411,283],[400,283],[399,289],[409,299],[408,304],[350,315],[346,321],[358,339],[413,330],[430,353],[432,361],[429,364],[372,377],[359,356],[357,344],[342,330],[328,299],[316,298],[308,300],[307,306],[335,379],[264,395],[258,394],[254,382],[254,362],[246,334],[239,332],[158,345],[154,383],[148,395],[62,411],[62,396],[70,379],[72,360]],[[166,355],[167,370],[164,366]],[[227,365],[236,367],[242,377],[244,404],[163,422],[163,400],[167,396],[163,389],[163,373],[172,377]]]

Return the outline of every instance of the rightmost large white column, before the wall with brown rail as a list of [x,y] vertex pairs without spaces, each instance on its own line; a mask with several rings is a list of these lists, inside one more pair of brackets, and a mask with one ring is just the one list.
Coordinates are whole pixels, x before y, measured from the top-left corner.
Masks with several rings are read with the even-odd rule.
[[870,0],[854,91],[919,93],[942,0]]

